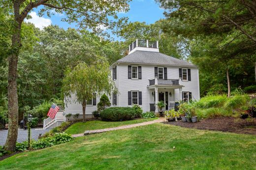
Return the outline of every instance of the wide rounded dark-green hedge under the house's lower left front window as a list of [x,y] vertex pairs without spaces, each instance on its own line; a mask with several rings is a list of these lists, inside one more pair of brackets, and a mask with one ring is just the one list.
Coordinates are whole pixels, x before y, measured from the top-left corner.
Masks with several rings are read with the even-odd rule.
[[122,121],[134,118],[136,111],[131,107],[112,107],[100,112],[103,120]]

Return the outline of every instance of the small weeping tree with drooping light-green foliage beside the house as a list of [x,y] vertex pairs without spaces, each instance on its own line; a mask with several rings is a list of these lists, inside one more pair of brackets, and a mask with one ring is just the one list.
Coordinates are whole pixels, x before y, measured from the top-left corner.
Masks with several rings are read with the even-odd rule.
[[97,93],[97,95],[103,92],[111,94],[112,91],[116,90],[110,76],[109,64],[104,58],[98,59],[91,65],[82,62],[72,71],[67,70],[63,81],[66,100],[72,100],[72,94],[76,95],[76,101],[83,108],[84,122],[87,101],[95,97],[94,93]]

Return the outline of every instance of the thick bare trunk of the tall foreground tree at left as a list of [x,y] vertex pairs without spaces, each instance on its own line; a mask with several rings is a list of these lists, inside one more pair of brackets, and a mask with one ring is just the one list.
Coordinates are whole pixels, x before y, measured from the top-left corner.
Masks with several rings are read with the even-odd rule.
[[[17,19],[15,18],[17,22]],[[11,54],[8,57],[8,136],[4,148],[15,150],[18,136],[18,94],[17,94],[17,64],[21,48],[21,23],[17,22],[12,35]]]

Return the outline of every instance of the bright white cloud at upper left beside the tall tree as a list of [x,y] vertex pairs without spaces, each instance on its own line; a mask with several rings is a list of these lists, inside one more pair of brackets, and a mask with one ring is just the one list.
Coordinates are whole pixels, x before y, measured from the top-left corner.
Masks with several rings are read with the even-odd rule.
[[44,27],[52,24],[52,21],[50,19],[39,17],[36,12],[31,12],[30,16],[32,18],[29,20],[25,19],[25,22],[33,23],[36,28],[43,29]]

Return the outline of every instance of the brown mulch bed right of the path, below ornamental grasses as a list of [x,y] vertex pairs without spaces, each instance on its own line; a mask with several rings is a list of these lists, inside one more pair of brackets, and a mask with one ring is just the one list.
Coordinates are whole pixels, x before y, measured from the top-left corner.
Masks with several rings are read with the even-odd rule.
[[222,132],[233,132],[238,134],[254,134],[256,135],[256,119],[254,123],[249,124],[245,119],[234,117],[218,117],[201,119],[196,123],[182,122],[163,122],[164,124],[171,124],[182,126],[186,128],[196,128],[200,130],[214,130]]

